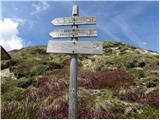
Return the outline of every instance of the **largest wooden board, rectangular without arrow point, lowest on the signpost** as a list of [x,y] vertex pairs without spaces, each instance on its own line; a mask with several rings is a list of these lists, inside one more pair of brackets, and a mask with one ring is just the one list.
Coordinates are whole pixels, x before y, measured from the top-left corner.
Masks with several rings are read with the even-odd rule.
[[49,41],[47,53],[102,54],[103,42],[100,41]]

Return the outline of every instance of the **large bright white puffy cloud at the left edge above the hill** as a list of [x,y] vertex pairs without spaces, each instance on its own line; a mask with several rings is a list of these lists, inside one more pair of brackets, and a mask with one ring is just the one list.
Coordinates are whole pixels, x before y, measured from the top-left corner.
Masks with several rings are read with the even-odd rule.
[[0,45],[7,51],[24,47],[23,39],[18,36],[20,21],[22,22],[22,19],[13,20],[10,18],[0,21]]

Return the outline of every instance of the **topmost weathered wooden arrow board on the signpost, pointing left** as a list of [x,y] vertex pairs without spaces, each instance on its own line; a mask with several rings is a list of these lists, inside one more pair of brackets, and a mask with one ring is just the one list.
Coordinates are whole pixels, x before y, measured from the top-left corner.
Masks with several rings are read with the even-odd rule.
[[52,21],[54,25],[89,25],[89,24],[96,24],[95,17],[65,17],[65,18],[55,18]]

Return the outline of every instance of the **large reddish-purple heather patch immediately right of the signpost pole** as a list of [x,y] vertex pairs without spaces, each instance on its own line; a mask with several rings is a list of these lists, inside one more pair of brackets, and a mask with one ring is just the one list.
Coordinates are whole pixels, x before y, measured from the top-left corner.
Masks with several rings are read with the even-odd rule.
[[122,86],[128,86],[133,82],[133,77],[123,70],[81,73],[81,78],[86,79],[81,84],[91,89],[104,87],[118,89]]

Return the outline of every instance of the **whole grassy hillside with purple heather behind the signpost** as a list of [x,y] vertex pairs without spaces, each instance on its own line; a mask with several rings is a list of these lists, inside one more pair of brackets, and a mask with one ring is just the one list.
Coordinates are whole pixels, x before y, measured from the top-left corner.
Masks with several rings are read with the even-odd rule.
[[[2,61],[2,118],[67,118],[70,56],[46,46]],[[158,118],[158,54],[104,42],[103,55],[79,55],[78,118]]]

